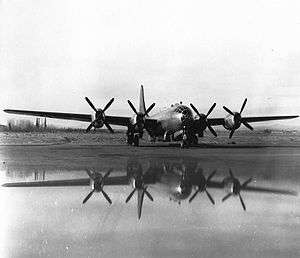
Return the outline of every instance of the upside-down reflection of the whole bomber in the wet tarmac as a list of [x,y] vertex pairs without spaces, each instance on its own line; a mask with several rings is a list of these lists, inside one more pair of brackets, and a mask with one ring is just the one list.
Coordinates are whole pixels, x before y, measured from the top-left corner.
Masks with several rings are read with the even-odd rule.
[[[144,165],[144,166],[143,166]],[[241,191],[252,191],[260,193],[273,193],[285,195],[297,195],[290,190],[275,188],[264,188],[249,186],[252,178],[244,183],[233,175],[229,169],[229,176],[222,181],[214,180],[216,170],[205,176],[197,159],[151,159],[149,162],[139,162],[137,159],[129,159],[127,162],[126,175],[112,176],[112,169],[108,170],[103,176],[99,172],[87,169],[88,178],[68,179],[68,180],[46,180],[35,182],[7,183],[5,187],[51,187],[51,186],[91,186],[92,190],[84,198],[86,203],[95,192],[102,193],[109,204],[112,203],[109,195],[103,190],[108,185],[132,185],[133,190],[127,196],[127,203],[137,192],[137,211],[138,218],[142,214],[144,196],[153,201],[150,192],[154,189],[159,190],[169,197],[170,200],[181,203],[184,200],[192,202],[200,193],[205,193],[212,204],[215,204],[213,196],[209,193],[209,188],[224,189],[226,196],[222,201],[231,196],[237,196],[246,210],[246,205],[241,196]]]

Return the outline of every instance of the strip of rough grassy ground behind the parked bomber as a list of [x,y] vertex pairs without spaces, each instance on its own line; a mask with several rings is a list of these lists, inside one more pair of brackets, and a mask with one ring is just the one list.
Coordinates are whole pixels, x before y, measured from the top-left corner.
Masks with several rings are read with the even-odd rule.
[[[300,146],[300,131],[267,131],[238,130],[233,138],[228,139],[227,131],[217,131],[218,137],[213,137],[209,132],[199,138],[199,143],[204,144],[230,144],[237,143],[243,145],[260,146]],[[148,137],[145,134],[144,145],[149,145]],[[116,131],[110,134],[107,130],[97,132],[31,132],[14,133],[0,132],[0,145],[19,145],[19,144],[80,144],[80,145],[119,145],[126,144],[125,131]],[[156,143],[157,145],[157,143]],[[159,143],[158,143],[159,145]],[[166,144],[164,144],[166,145]]]

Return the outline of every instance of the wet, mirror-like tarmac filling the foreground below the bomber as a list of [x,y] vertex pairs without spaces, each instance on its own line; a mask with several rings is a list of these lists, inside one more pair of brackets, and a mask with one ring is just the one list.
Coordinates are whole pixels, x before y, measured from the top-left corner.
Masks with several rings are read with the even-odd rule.
[[[1,187],[3,257],[300,256],[299,147],[20,145],[1,146],[0,157],[1,185],[85,183]],[[103,186],[111,205],[101,191],[83,204],[97,181],[87,170],[111,171]],[[222,201],[230,170],[273,193],[241,189],[246,211],[238,195]],[[210,176],[208,194],[195,195]],[[139,219],[145,188],[153,201],[144,192]]]

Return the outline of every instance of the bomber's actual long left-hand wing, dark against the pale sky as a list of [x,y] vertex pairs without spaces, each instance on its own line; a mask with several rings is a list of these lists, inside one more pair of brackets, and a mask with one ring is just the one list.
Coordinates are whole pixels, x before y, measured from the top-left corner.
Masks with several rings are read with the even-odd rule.
[[[90,114],[45,112],[45,111],[17,110],[17,109],[5,109],[4,112],[9,114],[49,117],[55,119],[76,120],[76,121],[83,121],[83,122],[92,122],[93,119]],[[130,122],[130,117],[105,116],[105,120],[112,125],[127,126],[128,123]],[[149,120],[153,120],[153,119],[149,119]]]

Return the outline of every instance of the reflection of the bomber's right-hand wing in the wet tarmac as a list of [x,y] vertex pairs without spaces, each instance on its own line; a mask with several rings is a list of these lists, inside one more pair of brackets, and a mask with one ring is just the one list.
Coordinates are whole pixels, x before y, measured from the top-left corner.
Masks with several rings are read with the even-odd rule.
[[[223,189],[223,182],[210,181],[207,183],[209,188]],[[284,194],[284,195],[298,195],[296,191],[285,190],[285,189],[276,189],[268,187],[258,187],[258,186],[246,186],[241,188],[242,191],[257,192],[257,193],[272,193],[272,194]]]

